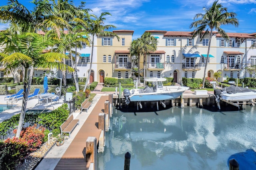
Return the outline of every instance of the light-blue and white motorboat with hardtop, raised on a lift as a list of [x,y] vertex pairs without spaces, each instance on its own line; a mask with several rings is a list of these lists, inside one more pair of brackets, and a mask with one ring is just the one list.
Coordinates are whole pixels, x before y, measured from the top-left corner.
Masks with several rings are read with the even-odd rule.
[[176,99],[189,87],[163,86],[162,81],[165,78],[146,78],[146,82],[151,83],[151,87],[146,85],[144,89],[124,89],[125,103],[128,105],[131,101],[164,101]]

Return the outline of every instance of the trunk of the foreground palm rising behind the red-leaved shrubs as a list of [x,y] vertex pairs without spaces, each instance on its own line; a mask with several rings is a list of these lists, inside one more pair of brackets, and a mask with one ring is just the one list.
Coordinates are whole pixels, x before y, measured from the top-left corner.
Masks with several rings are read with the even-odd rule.
[[[28,68],[24,69],[23,89],[24,89],[25,93],[23,93],[22,108],[21,108],[21,113],[20,113],[19,124],[17,127],[16,138],[20,137],[20,132],[21,132],[23,124],[24,124],[24,119],[25,119],[25,115],[26,115],[26,107],[27,107],[27,103],[28,103],[28,95],[29,95],[29,91],[30,91],[30,85],[32,82],[33,72],[34,72],[34,67],[32,67],[30,69],[30,71],[28,70]],[[28,75],[28,73],[29,73],[29,75]]]

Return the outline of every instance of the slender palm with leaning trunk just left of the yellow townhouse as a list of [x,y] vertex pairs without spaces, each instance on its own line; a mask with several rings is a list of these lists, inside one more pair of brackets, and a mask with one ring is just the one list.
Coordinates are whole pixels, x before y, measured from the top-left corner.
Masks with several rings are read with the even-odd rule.
[[111,28],[116,28],[113,25],[104,25],[104,21],[106,20],[105,16],[111,15],[109,12],[102,12],[100,17],[97,18],[96,16],[92,16],[92,18],[88,19],[88,27],[86,28],[86,31],[92,36],[91,46],[92,46],[92,57],[90,59],[90,69],[88,73],[88,77],[86,79],[86,83],[84,86],[84,92],[87,88],[88,82],[89,82],[89,76],[92,71],[92,59],[93,59],[93,48],[94,48],[94,36],[111,36],[116,37],[119,41],[119,37],[114,32],[108,32],[106,30],[109,30]]

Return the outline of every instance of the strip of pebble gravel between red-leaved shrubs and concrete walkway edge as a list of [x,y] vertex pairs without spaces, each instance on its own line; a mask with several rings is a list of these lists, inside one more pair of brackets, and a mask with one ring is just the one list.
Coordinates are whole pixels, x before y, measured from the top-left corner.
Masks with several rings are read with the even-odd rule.
[[54,144],[55,141],[50,139],[50,144],[46,142],[37,151],[30,153],[25,159],[25,162],[19,164],[16,170],[34,170]]

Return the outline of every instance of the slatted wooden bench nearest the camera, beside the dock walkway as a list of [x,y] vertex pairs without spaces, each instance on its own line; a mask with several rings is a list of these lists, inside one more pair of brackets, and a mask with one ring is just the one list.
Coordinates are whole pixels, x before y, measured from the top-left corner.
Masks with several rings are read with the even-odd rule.
[[70,133],[74,130],[76,125],[79,125],[79,120],[74,119],[73,115],[71,115],[62,125],[60,125],[60,132],[68,133],[68,137],[70,138]]

